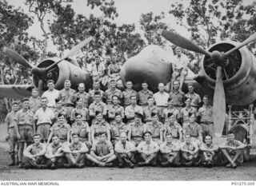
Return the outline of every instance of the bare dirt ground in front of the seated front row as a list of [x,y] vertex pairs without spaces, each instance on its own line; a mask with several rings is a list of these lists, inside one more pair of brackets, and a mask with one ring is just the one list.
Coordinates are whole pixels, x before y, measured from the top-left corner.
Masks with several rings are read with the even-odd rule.
[[10,156],[0,125],[0,180],[256,180],[256,156],[242,167],[214,168],[60,168],[35,170],[8,167]]

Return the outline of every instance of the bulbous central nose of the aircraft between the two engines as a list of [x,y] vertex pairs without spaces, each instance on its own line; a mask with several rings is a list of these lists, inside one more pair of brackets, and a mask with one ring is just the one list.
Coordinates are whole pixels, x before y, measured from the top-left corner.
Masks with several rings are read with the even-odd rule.
[[133,89],[142,89],[142,81],[149,84],[149,89],[156,92],[158,83],[166,85],[170,81],[173,53],[166,52],[160,46],[146,46],[137,56],[130,57],[121,69],[123,85],[132,81]]

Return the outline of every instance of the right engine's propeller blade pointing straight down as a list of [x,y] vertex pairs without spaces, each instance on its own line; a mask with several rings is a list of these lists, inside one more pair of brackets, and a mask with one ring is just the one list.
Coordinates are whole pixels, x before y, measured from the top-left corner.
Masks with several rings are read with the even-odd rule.
[[222,83],[222,66],[217,66],[216,85],[214,89],[214,133],[216,137],[222,136],[226,121],[226,100]]

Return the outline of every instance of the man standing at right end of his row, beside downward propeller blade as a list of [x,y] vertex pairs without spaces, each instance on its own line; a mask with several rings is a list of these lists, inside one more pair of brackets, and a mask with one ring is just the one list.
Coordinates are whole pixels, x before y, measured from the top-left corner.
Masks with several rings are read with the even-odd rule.
[[202,127],[202,137],[205,138],[206,135],[214,137],[214,110],[209,104],[208,96],[205,95],[202,98],[203,105],[198,109],[198,121]]

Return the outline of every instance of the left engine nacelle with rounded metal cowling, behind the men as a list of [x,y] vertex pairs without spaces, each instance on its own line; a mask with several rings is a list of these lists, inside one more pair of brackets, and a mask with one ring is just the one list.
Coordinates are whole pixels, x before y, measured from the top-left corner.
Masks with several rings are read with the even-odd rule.
[[[47,58],[38,64],[39,68],[46,68],[54,62],[58,61],[58,58]],[[77,89],[79,83],[84,83],[86,85],[86,90],[92,86],[92,79],[89,73],[81,69],[79,66],[70,63],[69,61],[61,61],[58,63],[58,67],[53,69],[47,74],[47,80],[54,80],[55,89],[62,89],[65,80],[69,79],[71,81],[71,88]],[[34,85],[38,87],[38,77],[34,76]],[[43,90],[46,90],[46,83],[44,83]]]

